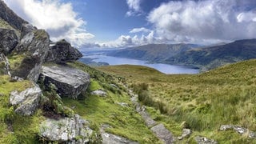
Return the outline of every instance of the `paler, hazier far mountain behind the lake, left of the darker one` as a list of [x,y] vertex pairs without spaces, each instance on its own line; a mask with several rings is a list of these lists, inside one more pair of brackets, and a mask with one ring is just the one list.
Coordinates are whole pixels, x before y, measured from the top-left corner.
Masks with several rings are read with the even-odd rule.
[[167,58],[181,54],[186,50],[199,47],[194,44],[149,44],[145,46],[130,47],[114,50],[107,55],[114,57],[142,59],[149,62],[165,62]]

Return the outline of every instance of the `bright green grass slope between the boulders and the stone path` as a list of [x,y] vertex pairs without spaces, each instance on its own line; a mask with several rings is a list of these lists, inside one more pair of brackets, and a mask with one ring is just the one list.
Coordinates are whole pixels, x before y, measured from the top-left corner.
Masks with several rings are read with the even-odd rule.
[[[86,99],[76,101],[65,98],[63,102],[66,106],[74,107],[74,112],[87,119],[95,130],[99,129],[102,124],[109,124],[112,128],[106,131],[112,134],[118,134],[140,143],[161,143],[134,110],[130,97],[122,91],[122,86],[118,85],[118,78],[79,62],[70,63],[70,65],[85,70],[92,78]],[[121,90],[119,92],[114,90],[110,84],[115,84]],[[98,89],[106,90],[107,96],[90,95],[90,91]],[[126,102],[128,106],[120,106],[118,102]]]

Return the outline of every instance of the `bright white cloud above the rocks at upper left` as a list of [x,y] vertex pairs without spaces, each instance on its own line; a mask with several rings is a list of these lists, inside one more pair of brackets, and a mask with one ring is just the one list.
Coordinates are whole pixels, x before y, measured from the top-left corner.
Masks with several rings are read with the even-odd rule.
[[45,29],[54,41],[65,38],[75,46],[94,38],[85,30],[86,22],[78,18],[71,3],[60,0],[4,0],[19,16],[39,29]]

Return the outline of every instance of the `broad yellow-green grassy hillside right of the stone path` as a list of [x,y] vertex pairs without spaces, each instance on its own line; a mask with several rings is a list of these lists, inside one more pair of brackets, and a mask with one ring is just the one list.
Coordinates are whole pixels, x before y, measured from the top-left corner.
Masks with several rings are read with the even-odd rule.
[[[196,75],[166,75],[144,66],[102,66],[122,76],[135,90],[148,85],[141,100],[160,122],[194,130],[218,142],[256,142],[219,126],[234,124],[256,131],[256,60],[239,62]],[[164,115],[162,115],[164,114]],[[190,140],[189,140],[190,141]]]

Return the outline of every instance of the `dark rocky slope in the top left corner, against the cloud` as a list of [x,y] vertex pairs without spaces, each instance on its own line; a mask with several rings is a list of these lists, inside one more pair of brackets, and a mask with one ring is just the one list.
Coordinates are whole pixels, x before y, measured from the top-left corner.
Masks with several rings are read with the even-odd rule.
[[10,25],[17,30],[22,30],[22,24],[28,23],[22,18],[18,17],[13,10],[10,10],[10,8],[6,6],[5,2],[3,1],[0,1],[0,18],[10,23]]

